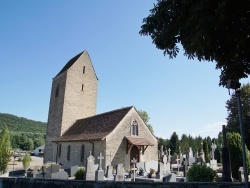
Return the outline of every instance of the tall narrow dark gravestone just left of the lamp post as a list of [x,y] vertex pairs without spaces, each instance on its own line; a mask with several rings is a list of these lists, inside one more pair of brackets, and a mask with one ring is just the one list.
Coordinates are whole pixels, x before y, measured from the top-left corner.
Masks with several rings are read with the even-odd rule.
[[223,166],[222,179],[223,179],[223,181],[233,182],[229,150],[227,149],[227,138],[226,138],[226,127],[225,127],[225,125],[222,125],[222,132],[223,132],[223,143],[224,143],[224,147],[221,148],[221,151],[222,151],[222,166]]

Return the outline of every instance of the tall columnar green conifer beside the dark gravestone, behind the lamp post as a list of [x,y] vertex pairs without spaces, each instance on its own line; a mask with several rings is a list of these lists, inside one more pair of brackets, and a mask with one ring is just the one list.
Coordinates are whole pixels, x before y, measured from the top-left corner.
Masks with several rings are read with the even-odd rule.
[[[238,170],[239,167],[243,166],[243,156],[242,156],[242,146],[241,146],[241,136],[239,133],[228,133],[227,134],[227,145],[231,156],[231,169],[232,176],[235,179],[239,179]],[[246,148],[246,163],[248,173],[250,172],[250,158],[248,155],[248,149]]]

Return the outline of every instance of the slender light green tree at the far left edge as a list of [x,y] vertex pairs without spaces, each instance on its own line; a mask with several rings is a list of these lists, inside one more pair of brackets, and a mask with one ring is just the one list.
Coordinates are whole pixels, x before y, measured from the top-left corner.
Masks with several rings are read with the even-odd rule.
[[7,126],[0,133],[0,172],[5,173],[11,157],[10,134]]

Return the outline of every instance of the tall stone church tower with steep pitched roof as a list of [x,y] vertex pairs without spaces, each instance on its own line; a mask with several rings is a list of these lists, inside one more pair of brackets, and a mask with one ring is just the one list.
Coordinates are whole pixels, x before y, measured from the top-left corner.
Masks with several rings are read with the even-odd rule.
[[53,141],[77,120],[96,115],[98,78],[87,51],[73,57],[53,78],[44,163],[55,162]]

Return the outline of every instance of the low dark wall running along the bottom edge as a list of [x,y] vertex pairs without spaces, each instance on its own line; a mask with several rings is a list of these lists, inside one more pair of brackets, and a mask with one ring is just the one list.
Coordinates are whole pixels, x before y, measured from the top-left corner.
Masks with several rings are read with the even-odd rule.
[[33,178],[0,178],[0,188],[244,188],[244,183],[163,183],[163,182],[110,182],[110,181],[80,181],[80,180],[52,180]]

